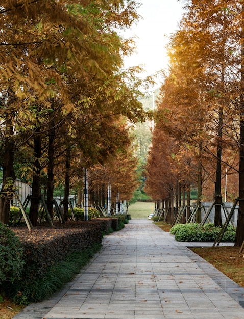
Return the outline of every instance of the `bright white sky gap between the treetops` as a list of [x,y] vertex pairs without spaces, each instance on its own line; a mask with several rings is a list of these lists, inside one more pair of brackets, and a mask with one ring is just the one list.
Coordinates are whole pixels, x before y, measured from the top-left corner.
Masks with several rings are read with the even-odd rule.
[[[177,0],[138,0],[143,17],[125,37],[136,36],[137,54],[125,59],[125,67],[143,65],[145,76],[167,67],[165,45],[168,36],[178,29],[183,14],[183,3]],[[143,74],[144,77],[144,74]],[[160,86],[160,84],[158,85]]]

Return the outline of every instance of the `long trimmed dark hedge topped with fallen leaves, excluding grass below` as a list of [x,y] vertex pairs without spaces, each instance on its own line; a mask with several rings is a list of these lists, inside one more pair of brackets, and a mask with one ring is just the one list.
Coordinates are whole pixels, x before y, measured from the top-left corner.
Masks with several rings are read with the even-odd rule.
[[[94,251],[94,247],[101,247],[103,235],[121,229],[121,223],[124,227],[124,223],[117,217],[97,218],[92,221],[55,223],[55,227],[52,229],[42,225],[42,227],[31,231],[28,231],[26,227],[13,227],[11,229],[2,224],[4,230],[0,228],[0,235],[3,237],[4,231],[6,231],[9,240],[0,242],[0,255],[3,248],[8,248],[6,243],[10,242],[15,243],[16,247],[16,243],[18,243],[19,253],[17,254],[16,250],[12,249],[13,256],[9,250],[8,256],[5,254],[6,263],[9,264],[13,272],[12,274],[9,272],[4,274],[4,270],[0,268],[0,292],[6,295],[11,294],[16,299],[16,296],[19,295],[18,291],[20,291],[22,297],[18,297],[16,301],[18,300],[22,304],[33,302],[31,297],[33,294],[30,291],[34,289],[37,282],[45,282],[48,273],[54,267],[57,269],[58,264],[66,262],[70,255],[78,253],[85,258],[87,251]],[[15,259],[12,257],[17,255],[18,259],[15,258],[17,261],[14,261]],[[74,260],[74,263],[77,262],[78,260]],[[21,266],[21,269],[17,269],[17,265]],[[15,270],[18,271],[18,274]],[[61,276],[61,274],[57,274],[57,277],[59,275]],[[18,291],[16,291],[17,287]],[[45,294],[46,291],[43,288],[41,295],[45,296]],[[37,296],[37,292],[35,292],[35,296]]]

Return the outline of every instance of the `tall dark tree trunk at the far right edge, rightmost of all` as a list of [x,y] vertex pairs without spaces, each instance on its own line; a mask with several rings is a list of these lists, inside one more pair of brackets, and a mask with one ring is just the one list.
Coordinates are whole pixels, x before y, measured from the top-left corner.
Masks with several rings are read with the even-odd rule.
[[[244,4],[242,4],[242,16]],[[242,18],[243,19],[243,18]],[[244,21],[242,20],[242,40],[244,39]],[[241,246],[244,241],[244,42],[241,42],[241,94],[240,94],[240,152],[239,152],[239,210],[236,227],[235,246]]]

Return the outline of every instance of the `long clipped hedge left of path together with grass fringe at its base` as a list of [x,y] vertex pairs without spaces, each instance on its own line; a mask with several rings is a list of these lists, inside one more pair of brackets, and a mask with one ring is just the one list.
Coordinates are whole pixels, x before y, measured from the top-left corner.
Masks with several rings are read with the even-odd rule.
[[[13,231],[11,238],[15,239],[13,242],[15,248],[18,247],[18,243],[22,247],[22,255],[18,256],[16,249],[10,246],[13,250],[11,258],[18,256],[15,264],[20,269],[18,273],[13,272],[12,283],[3,281],[3,285],[0,285],[2,293],[23,305],[47,298],[79,272],[92,253],[97,251],[97,247],[101,247],[103,234],[109,233],[107,230],[111,227],[113,230],[118,230],[118,218],[56,223],[53,232],[52,229],[47,229],[46,236],[43,227],[33,229],[27,236],[25,232],[27,229],[19,232],[21,227],[13,228],[21,240]],[[41,239],[35,240],[35,238]],[[75,255],[77,257],[73,260]],[[11,258],[7,261],[9,262]],[[25,267],[22,267],[24,263]],[[5,279],[9,277],[3,277],[3,280]]]

